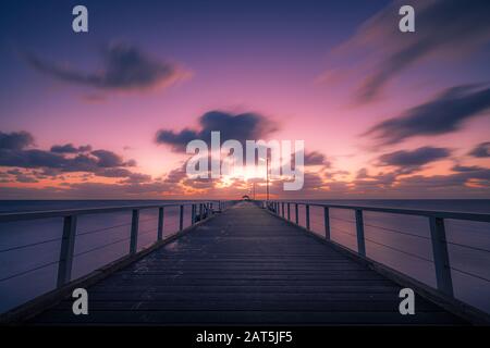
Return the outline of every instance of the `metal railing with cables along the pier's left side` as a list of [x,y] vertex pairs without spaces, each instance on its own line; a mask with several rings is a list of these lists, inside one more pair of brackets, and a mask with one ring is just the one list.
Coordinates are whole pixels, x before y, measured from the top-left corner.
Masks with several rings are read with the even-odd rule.
[[[30,272],[54,265],[58,263],[58,273],[57,273],[57,285],[56,287],[59,288],[70,281],[72,281],[72,269],[73,269],[73,259],[79,254],[85,254],[95,250],[100,250],[102,248],[106,248],[108,246],[122,243],[122,241],[128,241],[130,248],[128,248],[128,256],[135,254],[137,252],[137,246],[138,246],[138,236],[155,232],[152,228],[151,231],[145,231],[139,232],[139,225],[140,223],[145,221],[139,220],[139,212],[142,210],[149,210],[149,209],[158,209],[158,222],[156,226],[156,233],[157,233],[157,240],[161,241],[163,239],[163,228],[166,221],[166,209],[169,208],[177,208],[179,214],[177,214],[177,232],[181,232],[184,229],[184,208],[191,207],[191,226],[193,226],[198,221],[201,221],[204,219],[209,217],[216,212],[221,212],[225,210],[231,203],[226,201],[192,201],[192,202],[182,202],[182,203],[163,203],[163,204],[148,204],[148,206],[125,206],[125,207],[108,207],[108,208],[89,208],[89,209],[70,209],[70,210],[53,210],[53,211],[33,211],[33,212],[23,212],[23,213],[3,213],[0,214],[0,233],[2,233],[2,224],[8,222],[20,222],[20,221],[34,221],[34,220],[40,220],[40,219],[49,219],[49,217],[61,217],[63,219],[63,225],[62,225],[62,234],[61,238],[50,238],[47,240],[41,240],[37,243],[30,243],[30,244],[24,244],[22,246],[14,246],[9,247],[5,249],[0,249],[0,253],[14,251],[14,250],[21,250],[25,248],[30,248],[34,246],[52,243],[52,241],[61,241],[60,247],[60,254],[57,261],[51,261],[45,264],[37,265],[29,270],[24,270],[15,274],[11,274],[8,276],[0,275],[0,283],[12,279],[14,277],[19,277],[25,274],[28,274]],[[98,228],[94,231],[83,232],[83,233],[76,233],[77,229],[77,217],[81,215],[93,215],[93,214],[105,214],[105,213],[113,213],[113,212],[128,212],[131,211],[131,222],[126,224],[120,224],[117,226],[110,226],[105,228]],[[123,225],[131,225],[131,233],[128,237],[112,240],[109,244],[105,245],[98,245],[95,248],[85,250],[79,253],[74,253],[75,250],[75,239],[77,237],[93,234],[93,233],[103,233],[108,229],[120,227]]]

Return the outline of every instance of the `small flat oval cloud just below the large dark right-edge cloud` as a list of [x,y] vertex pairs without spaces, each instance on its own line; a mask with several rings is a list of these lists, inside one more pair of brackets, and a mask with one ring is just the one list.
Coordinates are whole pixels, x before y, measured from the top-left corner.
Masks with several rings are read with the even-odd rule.
[[449,158],[451,151],[444,148],[421,147],[412,151],[400,150],[379,157],[380,165],[392,165],[407,169],[418,169],[421,165]]

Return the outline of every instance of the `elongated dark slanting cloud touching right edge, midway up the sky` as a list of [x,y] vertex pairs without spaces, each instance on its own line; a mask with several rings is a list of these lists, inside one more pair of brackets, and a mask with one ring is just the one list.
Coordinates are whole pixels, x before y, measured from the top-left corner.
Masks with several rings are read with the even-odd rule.
[[457,130],[463,122],[490,108],[490,88],[457,86],[434,99],[405,111],[401,116],[383,121],[364,136],[372,136],[382,145],[391,145],[414,136],[439,135]]

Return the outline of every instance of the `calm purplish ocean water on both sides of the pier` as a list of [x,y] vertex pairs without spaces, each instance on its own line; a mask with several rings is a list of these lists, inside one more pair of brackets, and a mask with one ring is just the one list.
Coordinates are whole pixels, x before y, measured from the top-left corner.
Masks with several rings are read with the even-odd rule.
[[[69,200],[0,201],[0,213],[136,206],[177,201]],[[179,201],[182,202],[182,201]],[[489,200],[323,200],[333,204],[490,213]],[[291,219],[295,220],[294,207]],[[140,212],[138,249],[157,238],[157,209]],[[191,208],[184,210],[191,224]],[[306,225],[305,208],[298,222]],[[365,212],[367,256],[436,287],[429,221],[422,216]],[[331,209],[331,238],[356,250],[354,211]],[[490,312],[490,223],[446,220],[446,239],[455,297]],[[72,278],[77,278],[128,252],[131,211],[81,215],[77,220]],[[179,228],[179,208],[166,208],[163,235]],[[323,210],[310,208],[310,228],[324,233]],[[56,286],[61,219],[0,223],[0,312]]]

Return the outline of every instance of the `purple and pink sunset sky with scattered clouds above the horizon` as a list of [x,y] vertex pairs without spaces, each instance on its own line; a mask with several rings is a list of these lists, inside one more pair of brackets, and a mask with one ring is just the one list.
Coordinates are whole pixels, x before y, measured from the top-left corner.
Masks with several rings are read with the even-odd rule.
[[415,33],[399,1],[1,1],[0,199],[264,198],[186,175],[213,130],[305,141],[271,198],[490,198],[490,3],[408,2]]

